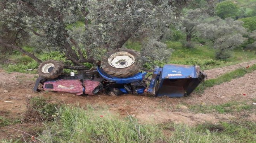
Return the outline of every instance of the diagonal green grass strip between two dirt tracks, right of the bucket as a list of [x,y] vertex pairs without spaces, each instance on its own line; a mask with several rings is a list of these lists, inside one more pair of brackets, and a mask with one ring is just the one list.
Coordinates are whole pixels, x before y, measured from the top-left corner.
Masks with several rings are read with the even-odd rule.
[[245,65],[244,68],[239,68],[237,70],[234,70],[232,72],[228,72],[228,73],[225,73],[223,75],[220,75],[219,77],[217,78],[213,78],[213,79],[209,79],[209,80],[206,80],[204,82],[202,82],[196,89],[195,91],[199,91],[199,92],[202,92],[204,89],[206,89],[207,87],[213,87],[214,85],[219,85],[221,83],[224,83],[224,82],[230,82],[232,79],[234,78],[239,78],[239,77],[242,77],[244,76],[246,73],[251,73],[253,72],[254,70],[256,70],[256,64],[255,65],[252,65],[250,66],[249,68],[246,68],[247,65]]

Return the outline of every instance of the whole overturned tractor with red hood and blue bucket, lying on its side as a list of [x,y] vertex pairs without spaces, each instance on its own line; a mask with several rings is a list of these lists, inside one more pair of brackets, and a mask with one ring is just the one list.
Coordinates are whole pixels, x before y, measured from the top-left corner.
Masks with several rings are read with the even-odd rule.
[[[138,57],[139,53],[134,50],[119,49],[102,60],[97,68],[70,75],[62,73],[61,62],[45,61],[38,68],[34,91],[40,91],[41,83],[43,90],[77,95],[106,92],[117,96],[146,91],[154,96],[182,97],[189,95],[206,77],[199,66],[189,65],[167,64],[157,66],[152,74],[141,72]],[[149,79],[149,76],[152,77]]]

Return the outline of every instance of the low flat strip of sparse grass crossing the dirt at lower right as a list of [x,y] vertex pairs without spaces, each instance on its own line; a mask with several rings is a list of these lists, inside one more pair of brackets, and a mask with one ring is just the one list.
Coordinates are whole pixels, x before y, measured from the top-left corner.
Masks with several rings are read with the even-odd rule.
[[190,105],[188,107],[190,111],[195,113],[218,112],[221,114],[230,112],[252,111],[256,109],[253,104],[246,104],[246,102],[228,102],[219,105]]

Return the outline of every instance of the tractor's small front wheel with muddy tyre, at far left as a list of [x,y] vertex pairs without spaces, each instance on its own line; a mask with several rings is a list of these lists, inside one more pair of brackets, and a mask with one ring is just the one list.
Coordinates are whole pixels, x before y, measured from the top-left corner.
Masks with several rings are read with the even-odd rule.
[[56,78],[61,75],[63,64],[60,61],[48,60],[41,63],[38,67],[38,75],[44,78]]

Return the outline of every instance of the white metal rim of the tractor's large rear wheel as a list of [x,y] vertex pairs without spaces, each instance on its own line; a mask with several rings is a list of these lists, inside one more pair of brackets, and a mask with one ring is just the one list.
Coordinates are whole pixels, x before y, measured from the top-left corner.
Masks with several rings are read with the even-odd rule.
[[112,54],[107,61],[114,68],[127,68],[135,62],[135,57],[128,52],[117,52]]

